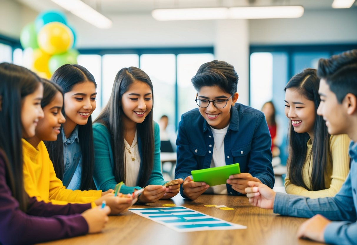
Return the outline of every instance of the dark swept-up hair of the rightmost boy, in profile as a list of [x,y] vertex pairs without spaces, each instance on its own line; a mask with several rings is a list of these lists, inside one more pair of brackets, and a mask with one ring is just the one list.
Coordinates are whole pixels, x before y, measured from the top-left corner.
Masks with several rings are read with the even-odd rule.
[[346,94],[357,97],[357,49],[318,61],[317,75],[326,79],[330,90],[341,104]]

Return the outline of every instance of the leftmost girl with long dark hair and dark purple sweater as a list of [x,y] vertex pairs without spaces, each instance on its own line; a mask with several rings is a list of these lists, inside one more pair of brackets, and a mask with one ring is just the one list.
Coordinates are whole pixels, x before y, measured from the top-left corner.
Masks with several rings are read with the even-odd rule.
[[0,244],[34,244],[96,233],[108,220],[109,207],[52,205],[26,194],[21,137],[33,137],[44,117],[43,91],[33,72],[0,64]]

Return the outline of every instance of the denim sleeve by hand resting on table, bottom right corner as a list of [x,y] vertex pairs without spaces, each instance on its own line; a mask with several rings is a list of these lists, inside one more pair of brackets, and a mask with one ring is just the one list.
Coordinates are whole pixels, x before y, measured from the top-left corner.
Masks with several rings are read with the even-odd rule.
[[323,235],[325,243],[338,245],[357,244],[357,224],[348,221],[332,222]]

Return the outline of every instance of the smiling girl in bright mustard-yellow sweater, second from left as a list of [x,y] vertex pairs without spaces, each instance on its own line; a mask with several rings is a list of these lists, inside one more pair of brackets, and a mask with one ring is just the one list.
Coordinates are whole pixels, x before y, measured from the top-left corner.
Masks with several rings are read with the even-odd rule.
[[[53,204],[67,204],[68,202],[88,203],[99,206],[103,200],[111,207],[112,214],[118,214],[130,206],[132,197],[114,197],[112,192],[90,190],[70,190],[56,177],[53,164],[50,160],[43,141],[55,141],[60,133],[61,125],[66,121],[62,115],[63,95],[59,85],[42,79],[44,84],[44,97],[41,107],[44,117],[38,121],[36,134],[28,139],[23,139],[24,154],[24,185],[29,196],[37,200],[52,202]],[[102,195],[97,199],[95,196]]]

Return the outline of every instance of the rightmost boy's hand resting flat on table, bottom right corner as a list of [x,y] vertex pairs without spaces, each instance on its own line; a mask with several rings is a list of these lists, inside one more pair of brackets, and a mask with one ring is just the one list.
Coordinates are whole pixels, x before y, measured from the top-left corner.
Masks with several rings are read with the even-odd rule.
[[311,240],[324,243],[325,239],[323,238],[323,235],[325,233],[326,226],[330,223],[330,220],[320,214],[317,214],[301,224],[299,230],[297,231],[297,236],[298,238],[309,238]]

